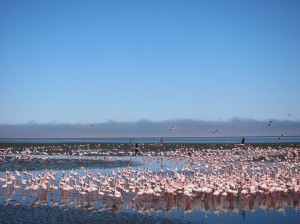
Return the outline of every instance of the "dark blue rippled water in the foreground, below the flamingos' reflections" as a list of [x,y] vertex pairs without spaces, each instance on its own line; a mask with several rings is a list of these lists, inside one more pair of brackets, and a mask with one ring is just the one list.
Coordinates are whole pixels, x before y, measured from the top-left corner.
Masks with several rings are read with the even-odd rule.
[[213,214],[181,211],[150,214],[128,211],[87,211],[47,206],[0,206],[1,223],[298,223],[299,214],[292,209],[282,212],[237,212]]

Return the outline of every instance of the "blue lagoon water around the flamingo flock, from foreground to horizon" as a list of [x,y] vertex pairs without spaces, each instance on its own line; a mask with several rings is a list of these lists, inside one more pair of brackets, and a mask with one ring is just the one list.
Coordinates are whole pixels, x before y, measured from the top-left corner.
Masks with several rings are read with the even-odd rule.
[[[132,138],[134,145],[158,144],[162,147],[175,147],[176,144],[234,144],[239,143],[241,137],[235,138]],[[163,171],[166,174],[172,169],[180,172],[180,167],[187,163],[188,158],[172,159],[166,155],[119,155],[118,151],[125,151],[124,144],[128,138],[102,138],[102,139],[0,139],[0,156],[5,160],[0,161],[0,178],[5,176],[7,170],[27,170],[33,175],[40,175],[46,170],[56,172],[56,183],[63,173],[77,170],[79,175],[87,172],[110,175],[113,171],[123,167]],[[108,151],[114,153],[110,156],[87,155],[32,155],[30,161],[16,160],[21,148],[32,149],[53,144],[85,144],[80,152],[93,153],[102,148],[93,148],[97,144],[114,144],[114,149]],[[159,144],[160,143],[160,144]],[[285,143],[299,145],[300,137],[246,137],[246,143]],[[17,146],[9,148],[9,154],[3,154],[6,145]],[[87,145],[91,147],[86,147]],[[24,145],[24,146],[22,146]],[[73,146],[72,146],[73,147]],[[145,146],[147,147],[147,146]],[[206,146],[207,147],[207,146]],[[13,151],[16,150],[16,151]],[[143,149],[144,151],[147,148]],[[105,151],[106,152],[106,151]],[[1,154],[2,153],[2,154]],[[46,160],[45,160],[46,158]],[[205,167],[200,167],[204,171]],[[298,171],[299,172],[299,171]],[[28,177],[24,178],[28,180]],[[2,188],[5,183],[0,183],[0,223],[299,223],[300,220],[300,196],[299,194],[277,194],[272,199],[263,196],[249,197],[206,197],[194,198],[192,201],[178,196],[163,200],[137,200],[132,201],[129,195],[123,201],[112,200],[93,193],[79,195],[66,193],[61,190],[39,190],[38,192],[26,192],[22,187],[18,190]]]

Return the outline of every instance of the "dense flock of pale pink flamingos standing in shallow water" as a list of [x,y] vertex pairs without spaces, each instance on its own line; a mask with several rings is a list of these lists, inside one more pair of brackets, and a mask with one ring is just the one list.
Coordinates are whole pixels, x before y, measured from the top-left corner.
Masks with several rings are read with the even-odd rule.
[[[170,197],[193,201],[209,197],[272,197],[275,194],[291,194],[298,198],[299,152],[296,147],[253,146],[202,150],[178,148],[164,152],[143,150],[137,157],[141,158],[146,168],[119,167],[106,174],[102,174],[101,170],[90,172],[84,167],[39,173],[6,170],[0,177],[0,186],[2,191],[22,190],[29,195],[45,191],[82,196],[97,194],[120,203],[124,200],[159,201]],[[103,152],[98,153],[96,155]],[[28,149],[21,153],[28,154]],[[111,156],[109,152],[105,155]],[[132,153],[129,156],[136,158]],[[176,167],[168,167],[165,161],[176,164]],[[161,164],[160,169],[149,168],[154,162]]]

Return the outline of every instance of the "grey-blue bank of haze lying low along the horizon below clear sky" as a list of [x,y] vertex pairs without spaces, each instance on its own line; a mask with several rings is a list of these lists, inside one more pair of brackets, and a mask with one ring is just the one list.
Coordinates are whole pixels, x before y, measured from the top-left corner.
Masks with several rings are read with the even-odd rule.
[[238,137],[238,136],[300,136],[300,122],[168,120],[153,122],[109,121],[90,124],[0,124],[0,138],[115,138],[115,137]]

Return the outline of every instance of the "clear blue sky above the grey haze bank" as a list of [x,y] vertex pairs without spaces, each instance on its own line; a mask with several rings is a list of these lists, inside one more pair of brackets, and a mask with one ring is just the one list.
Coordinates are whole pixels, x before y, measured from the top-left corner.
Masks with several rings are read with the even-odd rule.
[[298,0],[0,1],[0,131],[298,125],[299,11]]

